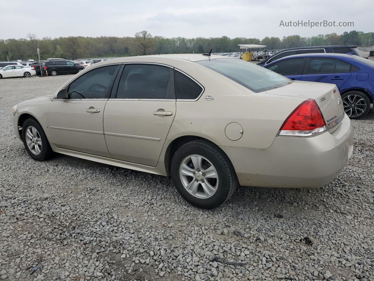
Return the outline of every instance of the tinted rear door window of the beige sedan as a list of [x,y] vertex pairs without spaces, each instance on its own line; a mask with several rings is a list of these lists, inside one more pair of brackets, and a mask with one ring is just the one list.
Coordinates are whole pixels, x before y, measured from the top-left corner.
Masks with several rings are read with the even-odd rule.
[[117,99],[175,99],[173,69],[153,64],[127,64]]

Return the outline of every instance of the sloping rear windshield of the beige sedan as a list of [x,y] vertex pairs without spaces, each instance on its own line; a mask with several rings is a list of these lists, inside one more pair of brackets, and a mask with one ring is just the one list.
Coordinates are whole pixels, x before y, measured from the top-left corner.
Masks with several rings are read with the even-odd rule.
[[288,78],[264,67],[234,58],[215,58],[196,63],[226,76],[255,93],[282,87],[291,82]]

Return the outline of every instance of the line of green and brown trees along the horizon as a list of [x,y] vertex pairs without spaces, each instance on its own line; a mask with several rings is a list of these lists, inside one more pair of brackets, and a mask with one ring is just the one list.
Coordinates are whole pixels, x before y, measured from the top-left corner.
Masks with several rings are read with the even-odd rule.
[[40,49],[40,58],[49,57],[67,58],[99,58],[124,57],[148,54],[174,54],[174,53],[203,53],[209,52],[238,52],[238,44],[266,45],[266,49],[284,49],[302,46],[321,45],[374,45],[374,33],[350,31],[343,34],[319,34],[312,37],[299,35],[258,38],[236,37],[230,39],[222,37],[173,37],[152,36],[147,31],[135,33],[134,37],[83,37],[70,36],[52,39],[43,37],[38,39],[35,34],[28,33],[21,39],[0,40],[0,61],[27,60],[38,58],[37,48]]

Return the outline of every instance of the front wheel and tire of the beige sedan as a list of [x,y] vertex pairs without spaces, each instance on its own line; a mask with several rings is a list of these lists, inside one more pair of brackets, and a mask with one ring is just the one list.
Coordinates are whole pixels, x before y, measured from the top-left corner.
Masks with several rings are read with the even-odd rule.
[[33,118],[28,118],[22,124],[22,141],[27,153],[34,160],[44,161],[53,154],[42,126]]

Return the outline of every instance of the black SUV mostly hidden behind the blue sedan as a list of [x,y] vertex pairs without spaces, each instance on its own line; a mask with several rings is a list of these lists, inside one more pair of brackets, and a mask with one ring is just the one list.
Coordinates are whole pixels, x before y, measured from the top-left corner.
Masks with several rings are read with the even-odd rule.
[[311,54],[311,53],[337,53],[337,54],[349,54],[358,55],[362,57],[362,54],[357,49],[357,46],[352,45],[335,45],[335,46],[314,46],[314,47],[299,47],[299,48],[288,48],[279,51],[269,58],[257,63],[258,65],[264,65],[270,63],[271,61],[278,60],[278,58],[283,58],[288,55],[297,54]]

